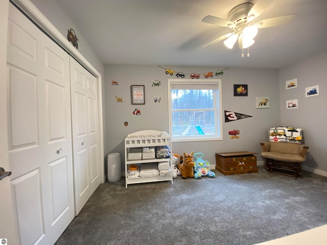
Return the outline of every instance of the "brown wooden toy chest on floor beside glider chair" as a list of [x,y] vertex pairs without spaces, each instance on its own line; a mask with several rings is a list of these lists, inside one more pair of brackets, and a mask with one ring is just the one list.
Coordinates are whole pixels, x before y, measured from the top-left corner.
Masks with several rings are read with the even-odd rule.
[[216,153],[216,169],[224,175],[258,173],[255,152]]

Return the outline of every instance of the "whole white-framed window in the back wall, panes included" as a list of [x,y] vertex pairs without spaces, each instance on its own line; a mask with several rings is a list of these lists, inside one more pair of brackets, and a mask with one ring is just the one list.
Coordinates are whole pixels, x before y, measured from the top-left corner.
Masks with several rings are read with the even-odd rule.
[[221,80],[168,79],[168,100],[174,142],[222,140]]

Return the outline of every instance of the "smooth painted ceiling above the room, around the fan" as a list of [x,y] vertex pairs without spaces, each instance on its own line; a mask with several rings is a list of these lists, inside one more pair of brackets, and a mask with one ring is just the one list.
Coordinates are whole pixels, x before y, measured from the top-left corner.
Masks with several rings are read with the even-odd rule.
[[233,7],[256,0],[52,1],[104,64],[281,68],[327,51],[326,0],[274,0],[255,21],[288,14],[296,18],[284,26],[259,29],[250,57],[246,49],[243,58],[238,45],[230,50],[221,41],[202,47],[230,29],[201,19],[227,19]]

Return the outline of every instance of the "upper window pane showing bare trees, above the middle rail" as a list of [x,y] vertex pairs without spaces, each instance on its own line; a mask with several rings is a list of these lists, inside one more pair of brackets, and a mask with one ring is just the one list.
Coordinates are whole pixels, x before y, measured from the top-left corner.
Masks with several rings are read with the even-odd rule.
[[172,109],[214,109],[214,90],[171,90]]

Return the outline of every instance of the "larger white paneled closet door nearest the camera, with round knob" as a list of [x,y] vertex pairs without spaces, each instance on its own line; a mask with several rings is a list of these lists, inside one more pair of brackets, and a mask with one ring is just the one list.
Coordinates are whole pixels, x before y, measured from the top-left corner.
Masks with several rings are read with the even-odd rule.
[[8,148],[21,244],[74,218],[69,56],[15,7],[8,20]]

